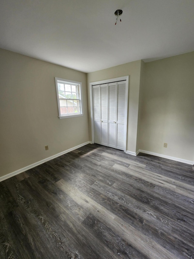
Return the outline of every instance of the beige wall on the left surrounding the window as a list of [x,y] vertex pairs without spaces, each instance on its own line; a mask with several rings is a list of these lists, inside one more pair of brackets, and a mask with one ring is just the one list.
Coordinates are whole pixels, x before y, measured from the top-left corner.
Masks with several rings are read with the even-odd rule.
[[[83,116],[58,118],[55,77],[82,82]],[[85,73],[0,49],[0,89],[0,176],[89,141]]]

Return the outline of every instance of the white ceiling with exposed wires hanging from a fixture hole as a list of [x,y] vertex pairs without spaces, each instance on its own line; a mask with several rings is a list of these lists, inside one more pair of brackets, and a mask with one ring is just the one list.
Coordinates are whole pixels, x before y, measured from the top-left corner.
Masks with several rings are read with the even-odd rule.
[[194,51],[194,0],[1,0],[0,47],[86,73],[175,56]]

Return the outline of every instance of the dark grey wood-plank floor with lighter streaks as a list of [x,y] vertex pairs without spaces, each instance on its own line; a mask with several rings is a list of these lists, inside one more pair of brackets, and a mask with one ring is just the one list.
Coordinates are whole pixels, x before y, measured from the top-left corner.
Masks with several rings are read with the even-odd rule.
[[194,168],[86,145],[0,182],[0,258],[194,258]]

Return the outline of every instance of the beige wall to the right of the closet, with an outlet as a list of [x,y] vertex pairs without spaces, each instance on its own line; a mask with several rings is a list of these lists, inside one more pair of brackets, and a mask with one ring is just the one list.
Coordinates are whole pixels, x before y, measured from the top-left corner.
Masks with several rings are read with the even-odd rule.
[[141,94],[138,147],[194,161],[194,52],[145,63]]

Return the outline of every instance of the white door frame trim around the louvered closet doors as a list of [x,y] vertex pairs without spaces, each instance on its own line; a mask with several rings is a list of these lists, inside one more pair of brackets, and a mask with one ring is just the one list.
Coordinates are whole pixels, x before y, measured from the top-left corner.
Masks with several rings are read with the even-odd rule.
[[89,91],[90,91],[90,114],[91,114],[91,129],[92,129],[92,144],[94,144],[94,111],[93,111],[93,85],[100,85],[104,83],[112,83],[126,80],[126,109],[125,109],[125,147],[124,152],[126,153],[127,148],[127,120],[128,120],[128,93],[129,93],[129,76],[117,77],[102,81],[90,82]]

